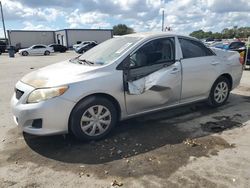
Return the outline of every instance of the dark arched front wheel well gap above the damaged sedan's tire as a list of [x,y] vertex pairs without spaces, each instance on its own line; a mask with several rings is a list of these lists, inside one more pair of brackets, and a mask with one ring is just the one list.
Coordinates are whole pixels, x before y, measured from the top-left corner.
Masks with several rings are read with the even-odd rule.
[[69,116],[69,120],[68,120],[68,131],[69,131],[69,132],[71,131],[71,130],[70,130],[70,119],[71,119],[71,114],[72,114],[73,110],[75,109],[75,107],[76,107],[80,102],[82,102],[83,100],[85,100],[86,98],[91,97],[91,96],[103,97],[103,98],[106,98],[106,99],[108,99],[109,101],[111,101],[111,102],[115,105],[115,108],[116,108],[116,110],[117,110],[117,116],[118,116],[117,119],[118,119],[118,120],[120,119],[120,117],[121,117],[121,107],[120,107],[120,104],[118,103],[118,101],[117,101],[113,96],[111,96],[111,95],[109,95],[109,94],[106,94],[106,93],[95,93],[95,94],[91,94],[91,95],[88,95],[88,96],[82,98],[81,100],[79,100],[79,101],[75,104],[74,108],[71,110],[70,116]]

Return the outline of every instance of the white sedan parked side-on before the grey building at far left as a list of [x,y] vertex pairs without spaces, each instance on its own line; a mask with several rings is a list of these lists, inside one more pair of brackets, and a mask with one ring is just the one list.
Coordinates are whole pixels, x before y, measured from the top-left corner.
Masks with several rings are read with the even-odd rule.
[[22,56],[28,56],[28,55],[50,55],[50,53],[54,52],[54,49],[52,47],[43,45],[43,44],[37,44],[33,45],[29,48],[20,49],[18,53]]

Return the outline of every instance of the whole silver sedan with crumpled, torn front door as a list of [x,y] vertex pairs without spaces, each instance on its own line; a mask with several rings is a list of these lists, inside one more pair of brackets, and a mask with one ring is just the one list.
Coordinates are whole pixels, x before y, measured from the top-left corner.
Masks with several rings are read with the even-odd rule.
[[31,72],[11,104],[24,132],[95,140],[137,115],[203,100],[223,105],[241,76],[237,52],[177,34],[136,33]]

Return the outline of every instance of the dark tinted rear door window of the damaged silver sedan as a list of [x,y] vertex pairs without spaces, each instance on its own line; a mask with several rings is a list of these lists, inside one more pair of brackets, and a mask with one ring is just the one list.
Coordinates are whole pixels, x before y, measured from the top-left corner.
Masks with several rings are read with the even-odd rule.
[[179,38],[179,42],[184,59],[214,55],[214,53],[201,42],[186,38]]

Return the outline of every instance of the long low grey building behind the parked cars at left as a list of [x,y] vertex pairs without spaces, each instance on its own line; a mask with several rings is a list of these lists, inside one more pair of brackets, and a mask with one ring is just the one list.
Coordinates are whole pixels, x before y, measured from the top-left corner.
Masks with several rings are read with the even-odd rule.
[[34,44],[62,44],[71,48],[81,41],[98,44],[113,37],[112,29],[62,29],[57,31],[8,30],[9,43],[17,49]]

